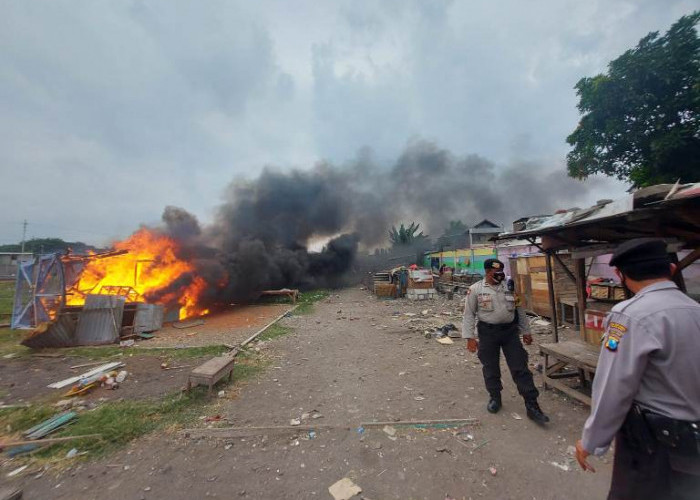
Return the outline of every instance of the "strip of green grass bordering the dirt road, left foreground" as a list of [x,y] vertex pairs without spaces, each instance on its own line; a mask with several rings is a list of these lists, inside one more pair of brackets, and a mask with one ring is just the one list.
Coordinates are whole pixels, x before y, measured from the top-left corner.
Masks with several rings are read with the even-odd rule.
[[[267,362],[260,356],[242,351],[233,370],[233,384],[249,379],[262,371]],[[226,379],[218,386],[225,386]],[[178,392],[162,399],[145,401],[112,401],[79,413],[65,429],[50,437],[101,434],[102,439],[83,439],[57,443],[35,453],[38,461],[50,462],[65,456],[71,448],[87,451],[87,456],[103,456],[128,442],[158,430],[177,430],[192,425],[200,416],[215,413],[216,399],[209,399],[206,388],[197,387],[190,393]],[[26,430],[58,413],[50,404],[0,410],[0,428],[9,432]]]

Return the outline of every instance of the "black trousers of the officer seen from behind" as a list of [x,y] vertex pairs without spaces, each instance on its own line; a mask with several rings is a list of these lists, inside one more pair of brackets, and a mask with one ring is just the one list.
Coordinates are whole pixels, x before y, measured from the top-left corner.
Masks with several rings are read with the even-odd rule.
[[[682,457],[675,457],[676,460]],[[686,459],[687,460],[687,459]],[[694,459],[697,470],[697,462]],[[700,475],[673,466],[668,448],[659,446],[653,454],[638,451],[625,436],[615,437],[615,461],[608,500],[697,500]]]

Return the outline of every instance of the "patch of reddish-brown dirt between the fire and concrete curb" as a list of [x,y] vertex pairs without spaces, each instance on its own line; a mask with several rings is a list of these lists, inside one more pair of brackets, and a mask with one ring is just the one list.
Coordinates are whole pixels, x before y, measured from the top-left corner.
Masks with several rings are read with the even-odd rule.
[[154,338],[141,343],[149,347],[240,344],[291,308],[291,304],[237,305],[228,311],[205,316],[203,325],[183,329],[165,326],[155,332]]

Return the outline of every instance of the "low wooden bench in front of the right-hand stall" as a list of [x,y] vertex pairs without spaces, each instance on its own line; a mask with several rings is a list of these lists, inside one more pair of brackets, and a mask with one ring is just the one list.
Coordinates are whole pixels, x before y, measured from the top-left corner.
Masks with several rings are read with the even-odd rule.
[[[588,381],[593,380],[593,375],[598,367],[599,352],[592,345],[578,340],[540,344],[540,354],[544,356],[542,373],[544,389],[547,390],[547,386],[552,386],[590,406],[591,398],[589,396],[564,382],[560,382],[560,379],[579,377],[581,386],[586,387]],[[552,364],[550,364],[549,358],[554,358]],[[565,371],[567,367],[573,367],[576,371]]]

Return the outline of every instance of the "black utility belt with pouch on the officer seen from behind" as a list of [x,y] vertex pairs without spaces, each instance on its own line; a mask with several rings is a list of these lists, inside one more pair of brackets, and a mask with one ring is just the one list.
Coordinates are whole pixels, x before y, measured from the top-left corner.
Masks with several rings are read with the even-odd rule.
[[651,455],[665,448],[677,455],[700,458],[700,422],[666,417],[633,403],[621,431],[638,451]]

